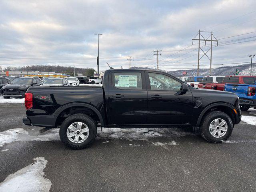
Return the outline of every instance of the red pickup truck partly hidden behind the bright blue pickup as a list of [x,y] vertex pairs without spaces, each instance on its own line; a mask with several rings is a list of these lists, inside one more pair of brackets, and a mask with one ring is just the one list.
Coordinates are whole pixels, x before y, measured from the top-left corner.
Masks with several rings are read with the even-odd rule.
[[224,90],[224,86],[226,83],[232,84],[254,84],[256,81],[256,76],[241,76],[241,75],[230,75],[224,77],[222,83],[213,83],[212,89],[214,90]]

